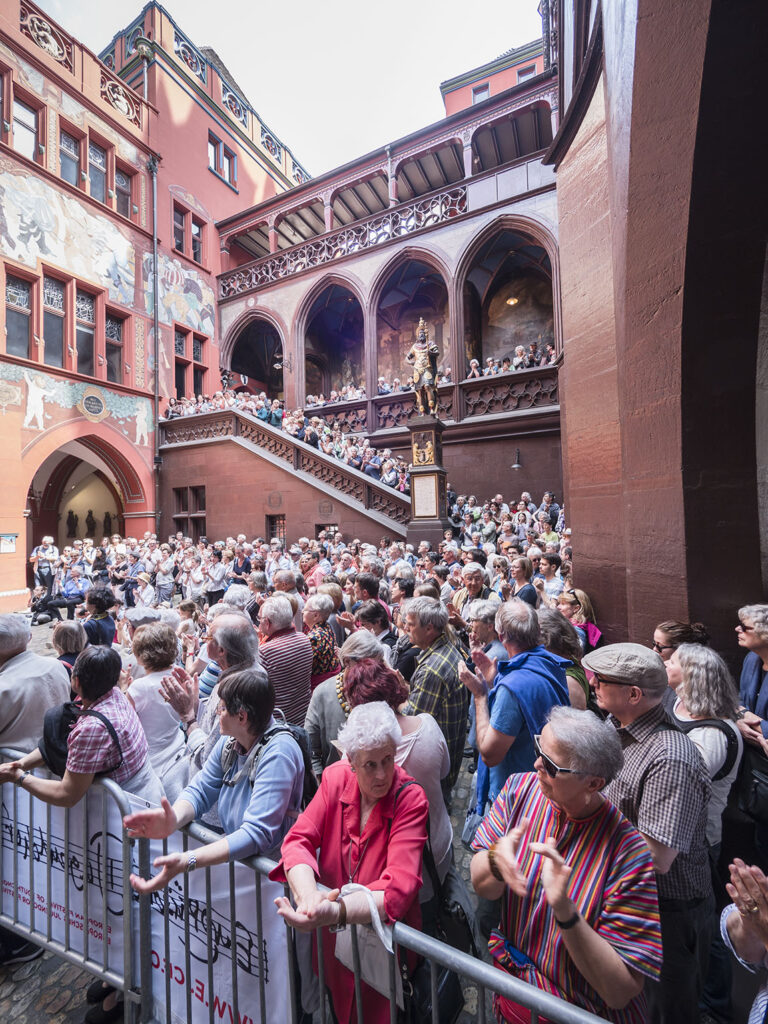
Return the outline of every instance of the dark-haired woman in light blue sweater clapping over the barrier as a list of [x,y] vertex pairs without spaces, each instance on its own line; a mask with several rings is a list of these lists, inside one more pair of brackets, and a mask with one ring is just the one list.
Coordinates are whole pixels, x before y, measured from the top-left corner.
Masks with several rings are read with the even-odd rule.
[[[274,689],[260,668],[230,671],[218,686],[221,738],[189,785],[173,804],[129,814],[128,835],[166,839],[201,817],[218,801],[222,839],[186,853],[157,857],[153,879],[131,876],[139,893],[168,885],[182,871],[210,867],[254,854],[276,853],[296,819],[304,783],[304,761],[291,733],[272,717]],[[274,731],[273,731],[274,730]]]

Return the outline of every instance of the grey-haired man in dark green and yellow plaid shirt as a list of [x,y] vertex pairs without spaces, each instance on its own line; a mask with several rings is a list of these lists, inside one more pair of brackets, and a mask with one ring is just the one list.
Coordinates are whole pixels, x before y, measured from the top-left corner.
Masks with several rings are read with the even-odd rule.
[[442,730],[451,754],[451,770],[442,780],[442,795],[450,808],[467,738],[469,694],[459,679],[462,655],[445,633],[449,613],[441,601],[415,597],[404,603],[403,610],[406,632],[422,651],[411,678],[404,714],[431,715]]

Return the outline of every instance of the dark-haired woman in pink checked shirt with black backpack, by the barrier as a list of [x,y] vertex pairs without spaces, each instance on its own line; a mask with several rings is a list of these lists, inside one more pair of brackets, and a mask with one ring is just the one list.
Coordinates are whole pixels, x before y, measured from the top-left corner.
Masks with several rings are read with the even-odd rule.
[[159,804],[163,786],[150,763],[141,723],[118,685],[120,672],[120,655],[112,647],[86,647],[78,654],[72,688],[82,711],[89,714],[81,714],[70,732],[63,778],[30,774],[45,764],[38,748],[19,761],[0,765],[0,782],[16,782],[54,807],[74,807],[96,775],[103,775],[126,793]]

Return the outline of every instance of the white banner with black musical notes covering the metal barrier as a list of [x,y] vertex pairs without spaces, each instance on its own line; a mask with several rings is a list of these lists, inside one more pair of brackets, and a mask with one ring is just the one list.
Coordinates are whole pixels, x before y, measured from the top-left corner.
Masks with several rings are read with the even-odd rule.
[[[146,806],[134,798],[128,799],[136,804],[137,810]],[[42,936],[47,935],[50,919],[51,938],[68,943],[84,958],[104,964],[122,975],[122,820],[109,797],[105,818],[99,792],[91,792],[85,800],[87,815],[85,801],[81,801],[69,812],[67,826],[63,809],[31,800],[29,794],[9,783],[2,786],[0,909],[4,916],[32,927]],[[152,863],[163,851],[159,842],[150,846]],[[181,836],[175,833],[168,840],[168,852],[180,850],[181,846]],[[191,848],[195,846],[190,843]],[[138,870],[136,854],[134,843],[132,871]],[[159,1020],[166,1019],[170,999],[171,1019],[177,1024],[208,1024],[211,1007],[213,1019],[226,1024],[285,1024],[290,1006],[288,933],[273,903],[274,897],[283,894],[283,887],[262,878],[259,895],[256,873],[236,864],[230,898],[230,870],[229,864],[211,869],[210,903],[206,872],[188,874],[186,914],[183,878],[171,882],[167,897],[164,891],[152,897],[152,981]],[[259,903],[261,943],[257,925]],[[135,894],[130,913],[136,947],[134,977],[138,978]]]

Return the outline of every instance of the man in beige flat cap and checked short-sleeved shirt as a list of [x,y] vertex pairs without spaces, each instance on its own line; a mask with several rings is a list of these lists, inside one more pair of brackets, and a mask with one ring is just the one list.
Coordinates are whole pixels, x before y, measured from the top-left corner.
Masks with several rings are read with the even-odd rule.
[[605,796],[642,833],[656,869],[664,965],[646,982],[651,1024],[697,1024],[712,938],[714,895],[707,852],[710,778],[698,751],[667,717],[664,662],[635,643],[591,651],[598,705],[612,716],[624,768]]

